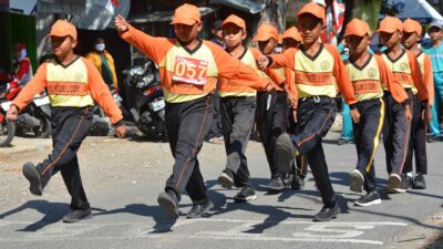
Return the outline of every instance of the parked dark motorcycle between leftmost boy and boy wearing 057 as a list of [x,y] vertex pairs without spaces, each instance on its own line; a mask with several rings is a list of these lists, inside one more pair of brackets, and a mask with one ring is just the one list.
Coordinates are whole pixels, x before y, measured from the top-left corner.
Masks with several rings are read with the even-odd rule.
[[146,59],[123,71],[125,100],[136,126],[147,137],[166,138],[165,100],[157,65]]

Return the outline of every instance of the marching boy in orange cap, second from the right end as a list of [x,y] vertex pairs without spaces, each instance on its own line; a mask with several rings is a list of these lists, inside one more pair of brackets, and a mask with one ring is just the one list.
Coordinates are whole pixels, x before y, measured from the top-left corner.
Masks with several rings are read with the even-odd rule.
[[[383,45],[387,46],[381,56],[395,75],[396,81],[404,87],[410,100],[411,110],[414,110],[414,94],[419,94],[421,105],[426,113],[429,110],[427,90],[423,83],[416,56],[413,52],[401,46],[403,24],[398,18],[387,17],[380,22],[378,32]],[[411,122],[405,116],[404,107],[396,103],[391,94],[383,96],[385,103],[385,121],[383,126],[383,142],[387,154],[387,169],[389,174],[388,193],[405,193],[402,188],[401,174],[406,159]]]

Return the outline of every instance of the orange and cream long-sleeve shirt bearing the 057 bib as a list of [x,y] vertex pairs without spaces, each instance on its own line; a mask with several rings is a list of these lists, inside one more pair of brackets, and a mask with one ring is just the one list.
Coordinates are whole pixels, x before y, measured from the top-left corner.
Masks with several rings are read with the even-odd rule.
[[169,103],[214,92],[218,77],[256,90],[264,90],[268,84],[253,69],[209,41],[200,41],[189,51],[177,39],[151,37],[131,25],[121,37],[158,64],[165,100]]

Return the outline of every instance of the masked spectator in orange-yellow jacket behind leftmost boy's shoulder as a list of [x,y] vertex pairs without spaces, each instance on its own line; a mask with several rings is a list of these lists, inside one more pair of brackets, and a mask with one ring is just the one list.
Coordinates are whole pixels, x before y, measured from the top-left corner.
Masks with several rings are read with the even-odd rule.
[[114,59],[105,50],[106,45],[103,38],[99,38],[94,44],[94,51],[86,54],[90,60],[99,69],[104,82],[111,89],[119,89],[117,76],[115,74]]

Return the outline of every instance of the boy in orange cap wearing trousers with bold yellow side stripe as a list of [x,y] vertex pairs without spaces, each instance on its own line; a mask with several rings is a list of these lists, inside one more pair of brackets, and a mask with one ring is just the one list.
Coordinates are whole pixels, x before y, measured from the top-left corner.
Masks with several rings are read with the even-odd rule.
[[[390,91],[396,103],[403,104],[406,116],[411,116],[406,92],[388,69],[383,59],[368,52],[371,30],[367,22],[353,19],[347,24],[344,38],[350,49],[346,62],[349,79],[359,101],[357,108],[361,114],[353,123],[357,147],[357,168],[351,172],[350,189],[367,194],[354,201],[358,206],[381,204],[375,188],[374,154],[379,146],[384,120],[383,89]],[[409,117],[410,118],[410,117]]]

